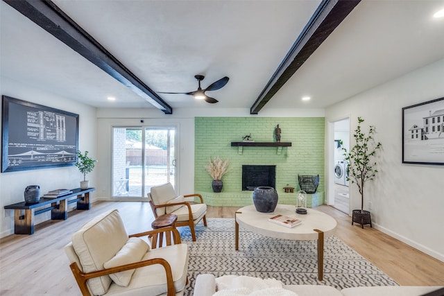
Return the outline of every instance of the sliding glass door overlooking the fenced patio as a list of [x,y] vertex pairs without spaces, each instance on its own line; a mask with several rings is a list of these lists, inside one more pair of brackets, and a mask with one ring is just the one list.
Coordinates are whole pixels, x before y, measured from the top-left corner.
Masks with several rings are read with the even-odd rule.
[[175,138],[174,127],[114,127],[112,196],[140,199],[151,186],[175,186]]

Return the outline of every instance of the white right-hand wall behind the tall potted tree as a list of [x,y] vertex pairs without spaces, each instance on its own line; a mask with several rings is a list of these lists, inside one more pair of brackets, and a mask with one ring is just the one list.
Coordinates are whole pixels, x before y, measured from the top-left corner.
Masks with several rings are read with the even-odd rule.
[[[402,164],[402,107],[444,96],[444,60],[386,82],[325,110],[328,133],[332,122],[350,116],[350,134],[357,127],[375,125],[382,143],[376,180],[366,188],[374,227],[444,261],[444,166]],[[366,130],[366,129],[365,129]],[[331,137],[331,136],[330,136]],[[350,136],[350,146],[354,140]],[[330,165],[326,158],[326,167]],[[444,157],[443,157],[444,162]],[[332,170],[327,170],[332,174]],[[357,186],[350,184],[352,209],[360,209]],[[365,231],[365,230],[364,230]]]

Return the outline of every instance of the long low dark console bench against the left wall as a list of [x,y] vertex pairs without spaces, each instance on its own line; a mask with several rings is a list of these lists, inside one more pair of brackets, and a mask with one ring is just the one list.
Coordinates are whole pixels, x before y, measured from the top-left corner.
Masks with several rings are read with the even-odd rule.
[[[34,216],[51,211],[51,220],[67,220],[68,204],[77,202],[77,209],[88,210],[91,208],[89,202],[89,192],[96,190],[88,189],[71,189],[72,193],[60,196],[58,198],[40,198],[39,202],[28,204],[26,202],[17,202],[9,204],[5,209],[14,210],[14,233],[15,234],[33,234],[34,233]],[[69,198],[74,198],[69,200]],[[49,207],[44,207],[51,204]],[[43,209],[39,209],[44,207]],[[38,210],[37,210],[38,209]]]

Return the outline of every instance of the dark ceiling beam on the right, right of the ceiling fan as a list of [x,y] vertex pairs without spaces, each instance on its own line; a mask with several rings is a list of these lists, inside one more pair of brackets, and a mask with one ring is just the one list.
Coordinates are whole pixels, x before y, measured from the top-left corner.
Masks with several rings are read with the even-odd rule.
[[361,0],[323,0],[250,108],[257,114]]

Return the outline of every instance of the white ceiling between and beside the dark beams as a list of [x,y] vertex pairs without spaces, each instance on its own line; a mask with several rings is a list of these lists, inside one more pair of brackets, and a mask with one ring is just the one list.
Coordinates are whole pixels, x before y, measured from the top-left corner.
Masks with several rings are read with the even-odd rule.
[[[250,108],[321,1],[56,0],[171,107]],[[363,0],[265,105],[324,108],[444,58],[444,0]],[[1,76],[96,107],[153,108],[1,1]],[[116,101],[110,102],[108,96]],[[311,101],[302,102],[302,96]]]

